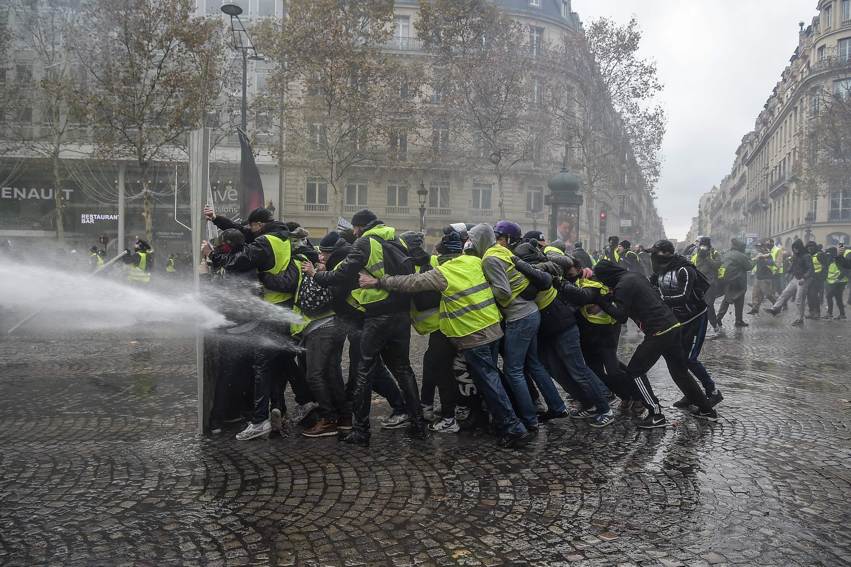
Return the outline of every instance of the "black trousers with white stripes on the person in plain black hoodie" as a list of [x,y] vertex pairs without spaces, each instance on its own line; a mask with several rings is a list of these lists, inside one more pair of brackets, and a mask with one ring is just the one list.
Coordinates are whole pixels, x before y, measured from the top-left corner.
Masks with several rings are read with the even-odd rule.
[[[744,296],[742,296],[744,297]],[[688,401],[697,405],[701,411],[710,411],[709,400],[703,390],[691,374],[688,373],[683,357],[683,333],[677,327],[662,335],[648,335],[644,337],[632,354],[630,363],[626,365],[626,374],[636,383],[638,392],[642,394],[644,405],[651,414],[662,413],[659,399],[653,393],[650,381],[647,378],[648,371],[654,367],[660,358],[665,359],[671,378],[677,384],[677,388],[688,397]]]

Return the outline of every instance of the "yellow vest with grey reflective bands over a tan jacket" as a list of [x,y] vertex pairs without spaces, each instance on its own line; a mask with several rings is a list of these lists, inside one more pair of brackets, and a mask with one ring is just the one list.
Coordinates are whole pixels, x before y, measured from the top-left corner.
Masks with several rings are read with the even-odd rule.
[[440,298],[440,330],[447,337],[466,337],[500,322],[494,290],[484,279],[482,260],[462,254],[435,268],[446,278]]

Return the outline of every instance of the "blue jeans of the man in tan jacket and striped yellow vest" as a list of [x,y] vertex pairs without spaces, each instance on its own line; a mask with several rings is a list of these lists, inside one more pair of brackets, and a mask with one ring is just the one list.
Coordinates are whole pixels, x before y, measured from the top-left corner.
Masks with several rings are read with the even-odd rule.
[[[500,371],[496,367],[499,341],[480,344],[471,349],[461,350],[465,360],[472,368],[473,383],[482,394],[488,411],[494,416],[496,426],[503,434],[523,434],[526,428],[517,419],[514,410],[511,409],[511,401],[508,394],[502,388],[500,382]],[[527,392],[528,395],[528,392]],[[531,403],[531,402],[530,402]],[[533,411],[534,415],[534,411]]]

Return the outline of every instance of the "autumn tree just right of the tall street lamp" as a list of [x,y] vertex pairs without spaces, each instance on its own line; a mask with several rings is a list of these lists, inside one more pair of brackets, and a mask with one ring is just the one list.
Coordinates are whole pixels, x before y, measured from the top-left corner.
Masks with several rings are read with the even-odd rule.
[[287,144],[268,149],[317,179],[310,196],[317,207],[330,206],[330,229],[353,176],[406,157],[392,139],[413,128],[420,73],[419,65],[402,65],[382,50],[392,17],[392,0],[294,0],[287,20],[257,31],[271,60],[285,62],[254,103],[270,115],[280,111],[277,133],[283,129]]

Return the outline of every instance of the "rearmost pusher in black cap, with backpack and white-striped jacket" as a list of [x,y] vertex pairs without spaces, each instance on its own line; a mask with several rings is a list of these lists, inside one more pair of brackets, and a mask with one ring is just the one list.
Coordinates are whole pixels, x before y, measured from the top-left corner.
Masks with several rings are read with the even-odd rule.
[[[657,241],[653,247],[648,248],[648,252],[653,263],[650,283],[659,288],[662,301],[671,308],[680,322],[686,366],[700,380],[706,392],[706,398],[714,407],[721,403],[724,396],[716,388],[706,367],[698,360],[709,322],[708,309],[703,297],[709,289],[709,281],[698,272],[694,264],[675,252],[674,245],[669,240]],[[688,400],[688,396],[683,396],[673,405],[683,408],[692,403]]]

